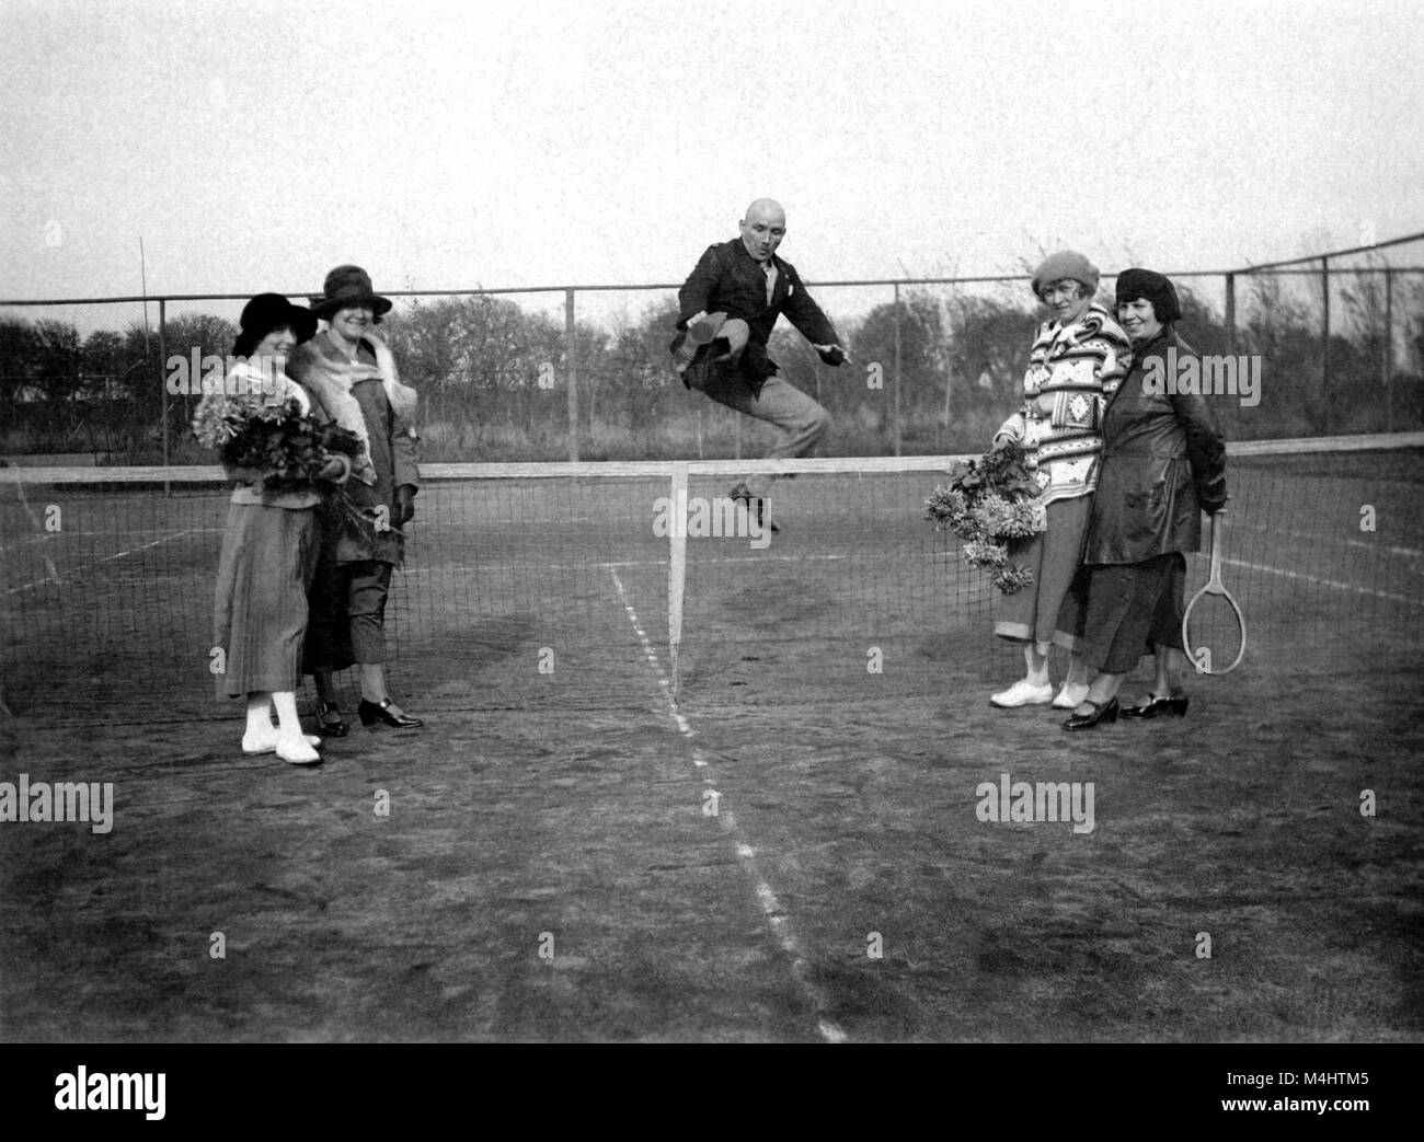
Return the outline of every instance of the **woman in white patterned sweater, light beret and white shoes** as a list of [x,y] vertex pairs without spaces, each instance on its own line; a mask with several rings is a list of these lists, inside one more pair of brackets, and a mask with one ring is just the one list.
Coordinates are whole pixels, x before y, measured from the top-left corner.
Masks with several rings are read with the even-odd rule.
[[1061,251],[1034,273],[1034,295],[1052,310],[1034,340],[1024,374],[1024,407],[1004,421],[995,444],[1012,440],[1035,468],[1048,527],[1010,548],[1027,567],[1031,585],[1004,595],[994,634],[1024,644],[1024,678],[995,693],[995,706],[1052,703],[1077,706],[1088,691],[1088,672],[1075,656],[1058,696],[1048,679],[1048,651],[1072,646],[1072,632],[1058,629],[1058,609],[1082,557],[1092,491],[1102,451],[1102,409],[1132,365],[1126,335],[1106,309],[1094,303],[1098,268],[1081,253]]

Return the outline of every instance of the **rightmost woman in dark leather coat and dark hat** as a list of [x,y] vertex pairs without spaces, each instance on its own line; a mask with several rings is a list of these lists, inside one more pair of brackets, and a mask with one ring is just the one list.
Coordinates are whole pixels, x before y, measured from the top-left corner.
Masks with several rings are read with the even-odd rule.
[[[1149,649],[1155,685],[1122,716],[1186,713],[1183,552],[1200,550],[1202,513],[1226,505],[1226,446],[1209,397],[1158,383],[1179,376],[1179,359],[1195,356],[1176,336],[1180,316],[1176,289],[1161,273],[1118,276],[1118,322],[1132,339],[1132,369],[1104,413],[1102,471],[1084,547],[1087,618],[1075,648],[1098,674],[1065,729],[1116,721],[1122,679]],[[1062,619],[1059,627],[1072,629]]]

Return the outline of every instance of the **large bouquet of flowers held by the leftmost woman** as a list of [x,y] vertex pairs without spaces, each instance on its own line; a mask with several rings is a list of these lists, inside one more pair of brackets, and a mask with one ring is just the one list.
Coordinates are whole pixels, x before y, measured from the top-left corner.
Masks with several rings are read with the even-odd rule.
[[261,397],[209,393],[198,403],[194,436],[224,464],[262,474],[265,491],[320,491],[342,520],[367,540],[375,521],[346,490],[319,480],[332,456],[347,461],[360,453],[360,439],[335,421],[318,424],[295,399],[268,403]]

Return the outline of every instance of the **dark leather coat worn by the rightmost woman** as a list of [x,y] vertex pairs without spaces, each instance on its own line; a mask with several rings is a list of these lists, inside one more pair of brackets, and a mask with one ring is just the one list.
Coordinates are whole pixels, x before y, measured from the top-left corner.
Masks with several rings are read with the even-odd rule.
[[[1175,357],[1168,350],[1175,349]],[[1102,471],[1082,561],[1134,564],[1171,551],[1198,551],[1202,511],[1226,504],[1226,444],[1210,402],[1148,392],[1143,376],[1175,376],[1168,365],[1195,350],[1172,326],[1134,346],[1132,369],[1102,420]],[[1158,359],[1156,366],[1148,362]]]

